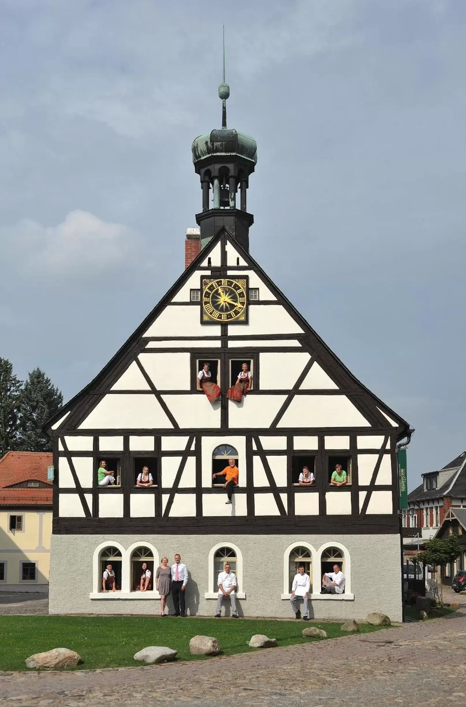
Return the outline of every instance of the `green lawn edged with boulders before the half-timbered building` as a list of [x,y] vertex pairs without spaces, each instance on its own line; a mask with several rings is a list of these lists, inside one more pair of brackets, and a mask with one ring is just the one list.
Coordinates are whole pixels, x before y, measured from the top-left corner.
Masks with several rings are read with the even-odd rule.
[[[205,660],[190,654],[192,636],[214,636],[223,655],[232,655],[257,650],[247,645],[255,633],[276,638],[279,645],[293,645],[325,640],[303,638],[301,631],[306,626],[318,626],[328,638],[337,638],[347,635],[340,631],[341,625],[175,617],[1,617],[0,670],[26,670],[28,655],[51,648],[76,650],[83,659],[82,669],[141,665],[133,655],[146,645],[175,648],[178,660]],[[369,633],[381,627],[361,624],[360,628],[361,633]]]

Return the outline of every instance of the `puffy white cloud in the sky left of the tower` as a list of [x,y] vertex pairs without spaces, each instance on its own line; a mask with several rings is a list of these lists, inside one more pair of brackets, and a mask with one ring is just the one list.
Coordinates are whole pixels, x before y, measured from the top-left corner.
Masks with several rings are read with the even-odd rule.
[[21,255],[28,271],[48,274],[95,274],[115,269],[131,258],[138,235],[122,223],[101,221],[88,211],[70,211],[58,226],[41,226],[27,218],[0,231]]

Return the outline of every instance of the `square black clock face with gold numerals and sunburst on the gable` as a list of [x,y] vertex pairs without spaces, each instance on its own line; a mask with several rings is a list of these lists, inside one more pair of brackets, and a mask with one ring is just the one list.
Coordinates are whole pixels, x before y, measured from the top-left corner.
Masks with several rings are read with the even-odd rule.
[[245,322],[246,280],[219,278],[202,281],[203,322]]

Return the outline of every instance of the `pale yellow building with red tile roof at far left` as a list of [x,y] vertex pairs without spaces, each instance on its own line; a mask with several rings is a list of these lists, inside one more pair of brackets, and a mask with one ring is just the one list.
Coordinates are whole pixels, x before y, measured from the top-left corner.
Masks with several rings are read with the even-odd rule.
[[0,592],[43,592],[52,534],[51,452],[7,452],[0,460]]

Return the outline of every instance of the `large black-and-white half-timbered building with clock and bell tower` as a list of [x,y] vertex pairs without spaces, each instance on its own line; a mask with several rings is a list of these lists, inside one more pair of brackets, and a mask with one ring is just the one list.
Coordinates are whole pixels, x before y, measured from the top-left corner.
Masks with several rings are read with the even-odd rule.
[[[217,573],[228,562],[240,613],[291,617],[291,581],[303,562],[313,616],[381,611],[400,621],[396,448],[409,425],[350,373],[250,255],[257,147],[226,127],[228,94],[221,84],[221,129],[192,145],[202,211],[199,229],[187,232],[187,269],[47,423],[55,469],[49,612],[156,613],[158,592],[139,591],[141,564],[154,571],[180,552],[191,614],[214,614]],[[293,233],[284,243],[293,247]],[[204,363],[211,377],[198,390]],[[252,390],[228,398],[244,363]],[[212,478],[229,459],[239,469],[231,504]],[[103,460],[114,479],[105,486]],[[331,484],[337,464],[346,485]],[[304,466],[315,484],[299,485]],[[147,488],[137,486],[144,467]],[[117,592],[102,591],[107,563]],[[345,591],[321,594],[322,572],[334,563]]]

